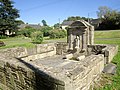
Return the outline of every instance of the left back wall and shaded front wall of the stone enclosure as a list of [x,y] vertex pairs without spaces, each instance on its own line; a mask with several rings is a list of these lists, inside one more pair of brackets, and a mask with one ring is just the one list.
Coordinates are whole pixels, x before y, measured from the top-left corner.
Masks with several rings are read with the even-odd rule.
[[[1,50],[0,87],[3,90],[55,90],[57,88],[62,90],[64,88],[64,82],[30,63],[31,60],[55,55],[55,44],[42,44],[36,47]],[[31,51],[34,53],[32,54]]]

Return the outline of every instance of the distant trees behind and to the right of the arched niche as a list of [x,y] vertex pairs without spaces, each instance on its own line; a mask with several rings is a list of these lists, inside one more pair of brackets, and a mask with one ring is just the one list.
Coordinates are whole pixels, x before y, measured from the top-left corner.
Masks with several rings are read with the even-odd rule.
[[[100,30],[114,30],[114,29],[120,29],[120,11],[113,10],[107,6],[100,6],[97,11],[98,16],[98,23],[99,26],[97,29]],[[94,20],[93,18],[86,18],[86,17],[80,17],[80,16],[70,16],[67,19],[63,20],[65,21],[76,21],[76,20]],[[59,26],[59,23],[54,25],[55,27]]]

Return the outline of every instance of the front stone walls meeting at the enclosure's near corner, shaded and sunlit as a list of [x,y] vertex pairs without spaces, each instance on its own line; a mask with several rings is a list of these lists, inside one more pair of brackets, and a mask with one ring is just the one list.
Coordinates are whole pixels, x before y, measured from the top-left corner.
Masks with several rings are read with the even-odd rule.
[[[24,60],[4,57],[0,60],[0,83],[3,90],[88,90],[104,68],[103,55],[92,55],[77,61],[75,67],[61,72],[62,76],[58,77]],[[69,68],[69,65],[66,67]]]

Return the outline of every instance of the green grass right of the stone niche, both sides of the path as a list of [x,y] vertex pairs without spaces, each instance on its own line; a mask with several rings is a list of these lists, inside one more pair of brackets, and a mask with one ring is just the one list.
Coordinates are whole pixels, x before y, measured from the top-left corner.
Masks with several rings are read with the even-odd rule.
[[107,75],[103,77],[111,83],[105,83],[94,90],[120,90],[120,31],[96,31],[95,38],[113,38],[113,39],[95,39],[96,44],[116,44],[119,45],[118,53],[113,59],[113,63],[117,65],[117,72],[115,75]]

